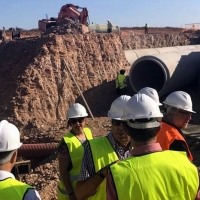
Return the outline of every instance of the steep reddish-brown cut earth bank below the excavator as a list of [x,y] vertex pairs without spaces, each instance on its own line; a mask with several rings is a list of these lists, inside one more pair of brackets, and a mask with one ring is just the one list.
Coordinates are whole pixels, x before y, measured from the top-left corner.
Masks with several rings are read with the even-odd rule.
[[[108,107],[99,100],[114,93],[112,81],[119,69],[129,65],[119,37],[50,34],[0,45],[0,118],[23,128],[62,127],[68,106],[80,94],[61,58],[68,63],[94,115],[104,114]],[[112,100],[113,96],[108,98],[108,105]]]

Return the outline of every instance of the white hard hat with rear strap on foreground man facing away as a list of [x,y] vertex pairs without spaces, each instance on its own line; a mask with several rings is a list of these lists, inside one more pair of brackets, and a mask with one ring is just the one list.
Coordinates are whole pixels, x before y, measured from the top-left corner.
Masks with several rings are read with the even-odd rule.
[[[146,94],[135,94],[124,107],[123,118],[127,120],[128,126],[132,128],[153,128],[160,126],[158,118],[163,117],[157,103]],[[151,119],[150,122],[138,123],[136,119]],[[132,122],[131,122],[132,121]]]

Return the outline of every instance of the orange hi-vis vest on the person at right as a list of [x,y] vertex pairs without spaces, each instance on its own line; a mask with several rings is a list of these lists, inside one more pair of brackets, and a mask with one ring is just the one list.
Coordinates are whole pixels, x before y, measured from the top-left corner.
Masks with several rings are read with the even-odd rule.
[[180,140],[185,143],[185,145],[187,146],[188,157],[191,161],[193,161],[193,157],[188,147],[188,144],[181,133],[178,131],[178,129],[165,122],[162,122],[161,130],[157,135],[157,142],[160,143],[160,146],[163,150],[169,150],[170,145],[174,142],[174,140]]

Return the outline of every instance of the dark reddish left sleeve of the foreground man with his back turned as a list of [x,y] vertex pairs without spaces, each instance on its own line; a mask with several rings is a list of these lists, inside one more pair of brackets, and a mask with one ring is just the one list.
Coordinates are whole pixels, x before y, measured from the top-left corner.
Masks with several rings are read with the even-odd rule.
[[108,171],[108,176],[106,179],[106,191],[107,191],[107,197],[106,197],[107,200],[118,200],[115,184],[110,170]]

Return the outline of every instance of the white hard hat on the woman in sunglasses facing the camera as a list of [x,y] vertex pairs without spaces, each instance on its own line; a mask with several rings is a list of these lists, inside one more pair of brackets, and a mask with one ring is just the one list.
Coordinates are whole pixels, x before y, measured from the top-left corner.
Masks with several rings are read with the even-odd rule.
[[84,106],[79,103],[71,105],[67,111],[67,118],[86,117],[88,113]]

